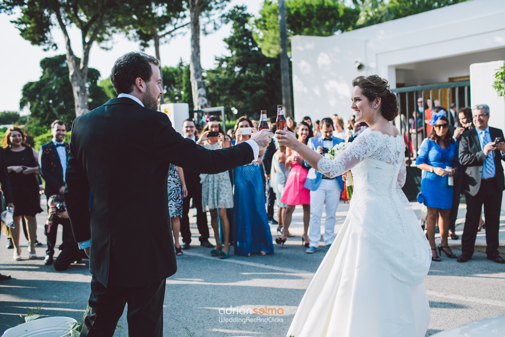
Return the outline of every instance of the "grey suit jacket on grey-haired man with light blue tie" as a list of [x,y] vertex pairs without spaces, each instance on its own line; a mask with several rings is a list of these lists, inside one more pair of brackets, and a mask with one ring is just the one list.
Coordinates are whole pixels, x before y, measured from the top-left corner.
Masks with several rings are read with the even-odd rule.
[[[500,129],[489,127],[491,141],[496,137],[503,138],[503,132]],[[485,145],[485,144],[484,144]],[[464,132],[460,137],[459,159],[463,165],[463,185],[462,191],[471,196],[475,196],[480,188],[482,178],[482,165],[486,160],[486,155],[481,150],[479,135],[476,128]],[[505,178],[503,177],[503,167],[501,153],[494,151],[494,166],[496,168],[496,183],[500,190],[505,189]]]

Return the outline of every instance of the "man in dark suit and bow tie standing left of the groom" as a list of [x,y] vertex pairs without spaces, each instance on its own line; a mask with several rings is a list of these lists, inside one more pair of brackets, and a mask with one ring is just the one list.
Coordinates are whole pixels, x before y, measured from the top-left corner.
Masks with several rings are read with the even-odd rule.
[[[53,139],[40,147],[38,157],[40,175],[45,180],[45,197],[47,202],[49,202],[49,197],[53,195],[63,195],[69,149],[68,143],[63,141],[67,135],[67,127],[64,122],[55,120],[51,124],[51,134],[53,135]],[[57,233],[57,225],[46,226],[47,250],[45,251],[44,258],[46,266],[53,264]]]

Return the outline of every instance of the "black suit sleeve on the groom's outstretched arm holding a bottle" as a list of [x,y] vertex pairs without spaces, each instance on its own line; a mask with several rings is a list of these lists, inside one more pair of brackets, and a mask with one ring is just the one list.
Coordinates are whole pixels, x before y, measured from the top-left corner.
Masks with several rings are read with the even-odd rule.
[[254,160],[254,152],[245,142],[227,149],[207,150],[191,139],[183,138],[174,130],[167,115],[160,113],[156,118],[153,125],[158,127],[154,135],[153,151],[161,160],[205,174],[228,171]]

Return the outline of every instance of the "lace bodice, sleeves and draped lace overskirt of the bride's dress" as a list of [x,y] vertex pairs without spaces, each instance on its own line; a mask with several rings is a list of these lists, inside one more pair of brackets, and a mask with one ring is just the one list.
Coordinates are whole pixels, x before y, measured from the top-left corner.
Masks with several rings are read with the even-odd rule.
[[318,170],[331,177],[351,170],[354,192],[345,221],[385,270],[411,286],[421,283],[431,251],[401,190],[407,172],[401,136],[368,129],[334,160],[320,159]]

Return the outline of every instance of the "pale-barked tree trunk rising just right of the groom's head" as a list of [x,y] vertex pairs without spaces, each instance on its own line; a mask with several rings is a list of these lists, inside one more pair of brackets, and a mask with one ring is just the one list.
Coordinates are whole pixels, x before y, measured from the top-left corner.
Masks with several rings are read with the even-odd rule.
[[188,3],[191,26],[191,60],[189,62],[189,71],[191,74],[194,109],[199,110],[209,106],[202,77],[203,71],[200,65],[200,10],[203,0],[188,0]]

